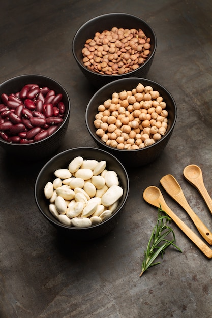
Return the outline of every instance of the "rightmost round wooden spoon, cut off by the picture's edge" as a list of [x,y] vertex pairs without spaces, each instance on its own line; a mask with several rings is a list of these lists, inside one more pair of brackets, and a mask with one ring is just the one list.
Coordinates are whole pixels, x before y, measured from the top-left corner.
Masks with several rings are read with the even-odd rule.
[[199,191],[210,213],[212,214],[212,199],[210,198],[209,193],[205,188],[202,170],[200,169],[200,167],[196,165],[189,165],[186,168],[184,168],[183,174],[186,180],[192,185],[194,185],[194,187]]

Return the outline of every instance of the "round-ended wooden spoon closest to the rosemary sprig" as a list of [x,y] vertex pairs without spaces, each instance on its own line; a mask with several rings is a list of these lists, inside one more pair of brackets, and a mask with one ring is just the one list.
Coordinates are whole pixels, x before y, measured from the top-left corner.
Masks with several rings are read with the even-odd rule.
[[143,198],[149,204],[161,208],[172,218],[176,225],[192,240],[192,242],[204,253],[208,258],[212,258],[212,250],[176,215],[166,204],[164,197],[159,188],[149,186],[143,192]]

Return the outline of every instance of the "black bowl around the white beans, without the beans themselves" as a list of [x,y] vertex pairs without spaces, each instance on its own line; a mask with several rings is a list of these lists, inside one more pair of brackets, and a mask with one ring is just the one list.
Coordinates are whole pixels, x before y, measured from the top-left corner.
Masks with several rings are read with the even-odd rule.
[[[114,170],[119,178],[119,185],[123,188],[124,193],[119,200],[116,211],[112,216],[100,224],[88,228],[75,228],[63,225],[49,212],[49,200],[44,196],[44,187],[48,181],[55,178],[54,171],[59,168],[67,168],[71,160],[76,156],[82,156],[84,159],[95,159],[97,161],[105,160],[106,169]],[[98,148],[72,148],[58,153],[52,157],[41,169],[35,183],[35,201],[42,215],[52,224],[58,233],[76,240],[90,240],[103,236],[113,229],[117,220],[122,216],[122,209],[126,203],[129,194],[129,178],[124,166],[110,153]]]

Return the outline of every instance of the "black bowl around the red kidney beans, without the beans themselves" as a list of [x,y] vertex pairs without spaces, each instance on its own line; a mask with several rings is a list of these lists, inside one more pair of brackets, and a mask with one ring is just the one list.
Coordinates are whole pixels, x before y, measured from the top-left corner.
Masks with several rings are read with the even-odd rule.
[[2,93],[11,94],[21,90],[26,84],[38,84],[40,87],[47,86],[55,90],[56,94],[63,94],[65,104],[64,120],[59,128],[50,136],[31,144],[9,143],[0,138],[0,146],[4,148],[11,157],[21,160],[39,160],[51,155],[60,146],[66,134],[70,117],[70,99],[65,88],[56,80],[37,74],[20,75],[6,80],[0,84],[0,97]]

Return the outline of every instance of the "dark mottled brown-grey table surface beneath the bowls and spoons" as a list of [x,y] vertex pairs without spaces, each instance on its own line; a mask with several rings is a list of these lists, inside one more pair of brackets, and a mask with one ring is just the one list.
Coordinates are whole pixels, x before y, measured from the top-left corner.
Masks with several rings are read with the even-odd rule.
[[[146,20],[158,40],[147,78],[174,97],[178,117],[163,154],[128,169],[130,194],[117,226],[106,236],[76,243],[59,237],[34,201],[45,160],[17,162],[0,149],[1,318],[152,318],[212,315],[212,261],[172,222],[183,253],[167,249],[160,265],[140,278],[157,209],[142,198],[149,185],[173,174],[198,216],[212,230],[212,216],[183,177],[189,164],[202,169],[212,195],[212,3],[210,0],[12,1],[1,4],[0,80],[27,73],[59,81],[71,100],[71,117],[57,152],[95,144],[84,113],[95,92],[71,51],[82,23],[99,14],[128,12]],[[74,136],[74,138],[73,138]],[[192,220],[162,190],[168,205],[199,236]]]

